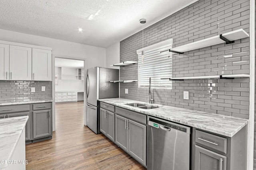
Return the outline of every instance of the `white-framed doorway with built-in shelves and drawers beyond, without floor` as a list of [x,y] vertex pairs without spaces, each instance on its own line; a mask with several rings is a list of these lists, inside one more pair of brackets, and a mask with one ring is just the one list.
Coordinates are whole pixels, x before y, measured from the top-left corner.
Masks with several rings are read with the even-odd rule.
[[52,55],[52,98],[53,98],[53,131],[56,131],[55,106],[71,102],[83,103],[85,113],[86,59],[70,56]]

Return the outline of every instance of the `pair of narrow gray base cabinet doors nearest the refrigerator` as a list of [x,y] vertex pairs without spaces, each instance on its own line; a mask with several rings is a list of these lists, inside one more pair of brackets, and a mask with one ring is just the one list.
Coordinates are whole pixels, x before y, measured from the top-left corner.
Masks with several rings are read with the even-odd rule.
[[100,108],[100,131],[111,141],[115,141],[115,114]]

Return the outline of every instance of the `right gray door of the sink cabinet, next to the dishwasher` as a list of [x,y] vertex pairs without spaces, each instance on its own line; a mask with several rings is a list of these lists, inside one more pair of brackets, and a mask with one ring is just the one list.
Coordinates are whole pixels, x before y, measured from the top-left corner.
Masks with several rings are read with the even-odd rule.
[[128,153],[146,166],[146,126],[128,120]]

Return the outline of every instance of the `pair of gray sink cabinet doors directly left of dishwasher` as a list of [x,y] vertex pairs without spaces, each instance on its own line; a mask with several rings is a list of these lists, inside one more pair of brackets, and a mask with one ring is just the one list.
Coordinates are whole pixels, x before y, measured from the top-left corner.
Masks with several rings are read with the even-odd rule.
[[116,144],[146,166],[146,125],[116,115]]

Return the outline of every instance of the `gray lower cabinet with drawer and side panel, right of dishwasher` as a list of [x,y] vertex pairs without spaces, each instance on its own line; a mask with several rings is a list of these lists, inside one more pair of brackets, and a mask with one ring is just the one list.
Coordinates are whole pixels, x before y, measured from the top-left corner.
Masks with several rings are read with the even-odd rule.
[[246,170],[247,125],[233,137],[193,128],[192,170]]

